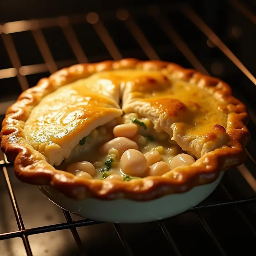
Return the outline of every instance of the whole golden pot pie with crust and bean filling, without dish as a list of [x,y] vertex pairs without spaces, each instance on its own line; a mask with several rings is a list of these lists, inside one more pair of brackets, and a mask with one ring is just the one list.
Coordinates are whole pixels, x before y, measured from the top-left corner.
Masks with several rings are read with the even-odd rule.
[[63,68],[21,93],[2,124],[17,177],[83,199],[152,200],[242,164],[244,104],[223,81],[164,61]]

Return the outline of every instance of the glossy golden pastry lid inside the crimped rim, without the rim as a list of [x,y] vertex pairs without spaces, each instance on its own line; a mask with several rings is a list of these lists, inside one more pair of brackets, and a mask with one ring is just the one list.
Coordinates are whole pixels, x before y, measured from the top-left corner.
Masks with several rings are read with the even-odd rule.
[[[213,96],[204,89],[203,80],[198,83],[180,81],[164,69],[97,72],[45,96],[24,124],[24,134],[50,164],[59,165],[65,158],[86,152],[76,146],[81,137],[123,112],[137,113],[150,119],[156,131],[165,131],[183,150],[199,158],[226,145],[227,133],[215,128],[226,129],[228,109],[218,99],[218,92]],[[209,137],[215,138],[214,143]],[[89,145],[92,150],[94,144]]]

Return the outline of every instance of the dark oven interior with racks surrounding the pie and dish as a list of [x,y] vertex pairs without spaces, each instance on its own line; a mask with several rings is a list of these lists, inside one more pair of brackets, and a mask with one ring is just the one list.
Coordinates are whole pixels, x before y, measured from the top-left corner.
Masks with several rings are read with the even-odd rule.
[[27,20],[19,5],[11,18],[0,11],[1,120],[20,92],[60,68],[135,57],[223,79],[247,105],[252,134],[245,163],[225,172],[203,203],[144,224],[99,223],[61,210],[36,186],[17,180],[1,153],[1,256],[255,255],[256,1],[198,2],[111,2],[89,4],[89,11],[76,5],[70,13],[66,4],[62,13],[45,11],[50,18],[38,12]]

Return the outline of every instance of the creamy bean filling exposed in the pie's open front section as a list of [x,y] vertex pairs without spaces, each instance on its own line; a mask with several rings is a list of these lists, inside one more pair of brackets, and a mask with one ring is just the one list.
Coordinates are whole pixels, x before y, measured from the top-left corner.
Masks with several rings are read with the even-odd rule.
[[57,168],[76,179],[129,181],[194,162],[167,133],[156,132],[148,118],[132,113],[93,130]]

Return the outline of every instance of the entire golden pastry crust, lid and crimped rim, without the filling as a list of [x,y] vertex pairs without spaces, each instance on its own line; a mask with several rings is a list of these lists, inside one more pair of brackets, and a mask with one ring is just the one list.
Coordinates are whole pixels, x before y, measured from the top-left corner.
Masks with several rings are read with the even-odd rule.
[[[121,102],[121,106],[119,103]],[[56,170],[79,140],[121,116],[148,117],[195,156],[162,176],[128,182],[75,180]],[[8,108],[1,148],[16,175],[66,196],[151,200],[214,181],[244,161],[250,140],[245,106],[223,81],[163,61],[124,59],[61,69],[23,92]]]

